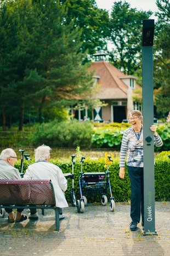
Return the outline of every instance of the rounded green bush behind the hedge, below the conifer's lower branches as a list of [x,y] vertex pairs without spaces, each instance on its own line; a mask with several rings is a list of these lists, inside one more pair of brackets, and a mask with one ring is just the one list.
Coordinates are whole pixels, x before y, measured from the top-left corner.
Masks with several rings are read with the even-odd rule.
[[49,146],[82,148],[90,146],[92,124],[90,122],[67,121],[43,123],[38,126],[33,134],[35,145],[48,144]]

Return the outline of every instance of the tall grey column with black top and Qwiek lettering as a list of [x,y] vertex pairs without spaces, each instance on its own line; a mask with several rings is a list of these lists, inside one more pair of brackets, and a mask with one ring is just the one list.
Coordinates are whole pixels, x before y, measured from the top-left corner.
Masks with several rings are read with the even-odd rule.
[[154,20],[143,20],[142,77],[143,77],[143,138],[144,138],[144,235],[157,235],[155,229],[154,177],[154,83],[153,42]]

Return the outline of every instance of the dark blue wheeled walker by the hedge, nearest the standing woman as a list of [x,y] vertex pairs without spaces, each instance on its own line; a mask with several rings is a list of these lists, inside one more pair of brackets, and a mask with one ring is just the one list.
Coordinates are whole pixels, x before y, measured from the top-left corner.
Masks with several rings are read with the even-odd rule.
[[101,204],[107,204],[107,190],[110,191],[110,209],[115,211],[115,199],[112,196],[110,179],[109,179],[109,161],[113,161],[111,156],[107,158],[107,171],[106,172],[84,172],[82,170],[83,161],[85,157],[81,159],[81,172],[79,177],[80,187],[80,200],[77,200],[77,211],[78,213],[84,213],[84,206],[87,204],[86,194],[100,193]]

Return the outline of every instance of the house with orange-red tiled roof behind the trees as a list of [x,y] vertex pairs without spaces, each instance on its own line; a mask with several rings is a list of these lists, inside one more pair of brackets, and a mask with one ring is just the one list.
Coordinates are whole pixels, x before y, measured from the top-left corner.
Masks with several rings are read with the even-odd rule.
[[95,99],[105,103],[105,106],[95,107],[94,115],[90,115],[88,108],[75,112],[75,117],[82,120],[89,117],[98,122],[119,122],[128,119],[129,111],[141,110],[141,106],[133,102],[133,91],[141,88],[137,83],[137,77],[125,75],[111,63],[106,61],[92,62],[90,72],[94,72],[94,84],[98,83],[99,89]]

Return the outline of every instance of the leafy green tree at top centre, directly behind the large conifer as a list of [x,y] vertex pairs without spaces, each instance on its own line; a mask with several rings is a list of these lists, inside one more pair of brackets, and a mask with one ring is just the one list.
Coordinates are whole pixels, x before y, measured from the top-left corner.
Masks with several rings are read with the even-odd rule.
[[60,0],[68,10],[66,23],[73,21],[73,29],[79,27],[82,31],[81,50],[93,55],[97,48],[106,48],[109,14],[98,9],[95,0]]

